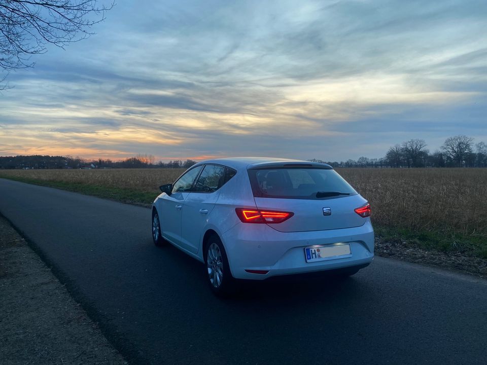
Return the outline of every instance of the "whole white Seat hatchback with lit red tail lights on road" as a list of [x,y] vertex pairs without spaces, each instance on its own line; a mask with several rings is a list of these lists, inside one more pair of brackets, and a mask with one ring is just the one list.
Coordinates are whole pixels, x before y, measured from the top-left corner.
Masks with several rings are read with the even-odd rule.
[[234,279],[338,270],[374,256],[370,205],[331,166],[257,157],[202,161],[152,205],[152,237],[205,265],[215,294]]

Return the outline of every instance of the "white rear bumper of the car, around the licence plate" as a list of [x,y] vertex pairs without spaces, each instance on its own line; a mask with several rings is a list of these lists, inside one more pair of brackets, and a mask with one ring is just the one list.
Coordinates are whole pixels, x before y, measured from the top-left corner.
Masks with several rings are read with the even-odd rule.
[[[278,275],[367,266],[374,257],[374,231],[369,218],[361,227],[311,232],[279,232],[265,224],[239,223],[221,238],[232,275],[238,279],[263,280]],[[352,257],[306,262],[304,247],[334,243],[349,243]],[[246,270],[268,272],[254,274]]]

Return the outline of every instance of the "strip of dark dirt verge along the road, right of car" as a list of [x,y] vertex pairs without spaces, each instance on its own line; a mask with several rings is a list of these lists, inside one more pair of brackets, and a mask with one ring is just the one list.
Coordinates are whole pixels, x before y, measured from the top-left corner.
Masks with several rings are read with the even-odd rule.
[[426,250],[401,239],[382,240],[380,237],[375,237],[375,254],[487,279],[487,260],[466,256],[460,252]]

